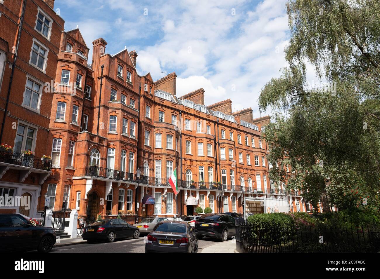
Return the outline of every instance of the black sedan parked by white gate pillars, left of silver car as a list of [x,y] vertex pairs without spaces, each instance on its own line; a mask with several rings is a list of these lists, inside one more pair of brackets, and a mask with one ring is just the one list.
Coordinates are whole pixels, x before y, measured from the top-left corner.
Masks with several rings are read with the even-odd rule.
[[138,227],[128,224],[122,219],[105,219],[92,223],[83,228],[82,238],[87,242],[107,240],[114,242],[121,238],[139,238]]

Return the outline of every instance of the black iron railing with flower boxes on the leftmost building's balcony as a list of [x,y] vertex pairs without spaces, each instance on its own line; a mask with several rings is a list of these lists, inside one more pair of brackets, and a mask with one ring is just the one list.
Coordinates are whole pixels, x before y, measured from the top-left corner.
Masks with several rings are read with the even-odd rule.
[[41,156],[26,155],[15,151],[0,150],[0,162],[33,169],[51,171],[52,161],[41,161]]

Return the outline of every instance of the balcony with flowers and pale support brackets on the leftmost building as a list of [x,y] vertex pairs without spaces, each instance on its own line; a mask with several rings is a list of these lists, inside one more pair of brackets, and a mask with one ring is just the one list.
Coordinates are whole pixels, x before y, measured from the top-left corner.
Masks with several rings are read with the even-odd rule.
[[43,184],[50,175],[52,161],[42,161],[41,156],[26,155],[15,151],[0,151],[0,179],[9,170],[15,169],[20,173],[19,181],[22,183],[30,173],[40,174],[40,183]]

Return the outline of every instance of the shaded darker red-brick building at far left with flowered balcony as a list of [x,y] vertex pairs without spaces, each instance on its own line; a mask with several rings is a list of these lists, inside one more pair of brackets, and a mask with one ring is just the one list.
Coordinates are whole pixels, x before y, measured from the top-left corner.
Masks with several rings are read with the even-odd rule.
[[[2,207],[0,212],[37,216],[41,187],[51,174],[41,156],[47,139],[53,95],[46,86],[55,79],[64,21],[54,0],[0,1],[0,195],[22,196],[28,205]],[[24,154],[25,150],[34,156]]]

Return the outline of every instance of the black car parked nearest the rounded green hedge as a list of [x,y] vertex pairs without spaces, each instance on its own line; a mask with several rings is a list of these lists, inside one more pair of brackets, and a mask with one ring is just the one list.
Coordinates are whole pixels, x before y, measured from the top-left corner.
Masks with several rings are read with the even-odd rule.
[[204,214],[195,222],[195,233],[198,238],[210,236],[220,241],[234,236],[236,220],[224,213]]

